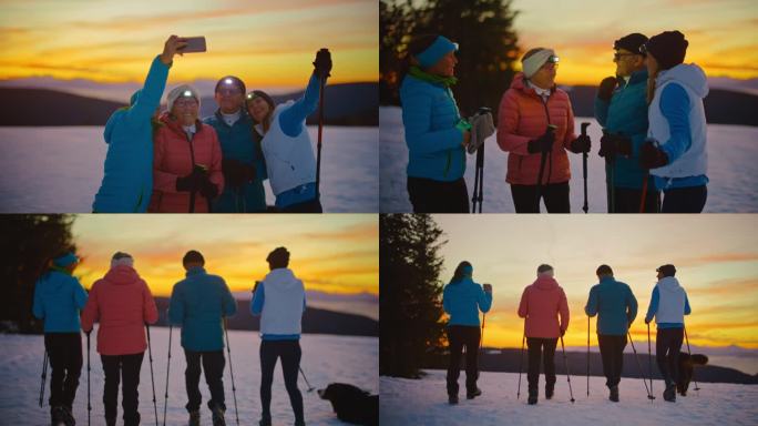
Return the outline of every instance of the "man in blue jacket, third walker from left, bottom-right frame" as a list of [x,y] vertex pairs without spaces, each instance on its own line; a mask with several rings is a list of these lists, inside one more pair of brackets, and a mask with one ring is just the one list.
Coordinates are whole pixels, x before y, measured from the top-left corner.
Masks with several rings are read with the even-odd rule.
[[600,265],[595,274],[600,283],[590,290],[584,312],[591,317],[597,315],[597,343],[605,385],[611,390],[608,399],[617,403],[626,335],[637,316],[637,300],[628,285],[613,277],[611,266]]

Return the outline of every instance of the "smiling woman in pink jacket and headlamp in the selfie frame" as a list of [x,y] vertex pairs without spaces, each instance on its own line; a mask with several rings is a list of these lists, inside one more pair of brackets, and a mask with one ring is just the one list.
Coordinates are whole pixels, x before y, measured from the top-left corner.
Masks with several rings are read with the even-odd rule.
[[216,131],[197,120],[199,95],[190,85],[168,93],[155,134],[151,213],[208,213],[224,189]]

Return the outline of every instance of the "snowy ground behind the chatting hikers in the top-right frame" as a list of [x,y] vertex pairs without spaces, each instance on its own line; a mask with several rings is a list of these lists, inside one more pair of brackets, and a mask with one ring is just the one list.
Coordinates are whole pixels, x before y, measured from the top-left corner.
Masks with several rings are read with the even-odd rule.
[[[410,212],[406,190],[408,148],[402,128],[402,111],[397,106],[379,109],[380,212]],[[580,123],[591,122],[587,134],[593,149],[587,159],[587,193],[591,213],[606,212],[605,169],[597,156],[602,129],[595,119],[576,118]],[[742,125],[708,124],[708,201],[707,213],[758,212],[758,193],[751,189],[758,184],[758,128]],[[582,156],[568,154],[571,161],[571,210],[582,213],[584,190]],[[500,150],[493,134],[485,142],[484,151],[484,202],[483,212],[513,213],[510,186],[505,183],[508,153]],[[475,155],[468,155],[465,182],[469,195],[473,191]],[[544,212],[544,205],[542,206]]]

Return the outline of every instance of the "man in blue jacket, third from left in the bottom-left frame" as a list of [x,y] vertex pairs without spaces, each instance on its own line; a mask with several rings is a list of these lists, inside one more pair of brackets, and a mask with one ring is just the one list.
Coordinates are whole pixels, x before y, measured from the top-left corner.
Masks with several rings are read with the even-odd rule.
[[[208,408],[213,425],[224,426],[224,328],[226,318],[237,312],[237,303],[224,278],[211,275],[203,267],[199,252],[187,252],[182,260],[186,278],[174,285],[168,306],[168,320],[182,325],[182,347],[187,361],[184,372],[187,388],[190,425],[199,425],[202,395],[198,388],[201,362],[205,382],[211,389]],[[228,342],[227,342],[228,344]]]

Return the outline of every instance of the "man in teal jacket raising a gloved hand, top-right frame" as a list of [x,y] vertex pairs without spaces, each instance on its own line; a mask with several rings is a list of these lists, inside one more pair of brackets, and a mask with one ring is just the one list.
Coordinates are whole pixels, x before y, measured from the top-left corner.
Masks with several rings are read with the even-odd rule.
[[[614,42],[616,75],[601,82],[595,99],[595,119],[603,126],[598,154],[605,158],[608,213],[637,213],[641,207],[655,213],[660,207],[654,180],[639,165],[648,126],[648,74],[646,57],[639,52],[646,41],[647,37],[635,32]],[[643,191],[645,184],[647,191]]]

